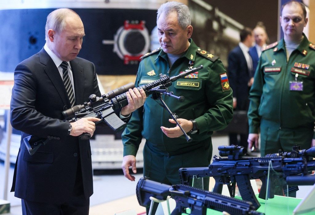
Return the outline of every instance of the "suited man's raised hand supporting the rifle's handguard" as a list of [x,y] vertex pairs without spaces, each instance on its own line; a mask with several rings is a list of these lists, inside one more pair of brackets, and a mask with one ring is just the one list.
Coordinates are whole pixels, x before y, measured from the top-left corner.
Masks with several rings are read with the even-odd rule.
[[126,97],[128,105],[121,109],[120,114],[122,116],[129,116],[133,111],[140,108],[146,101],[146,93],[143,89],[140,89],[140,91],[137,88],[129,89],[129,91],[126,92]]

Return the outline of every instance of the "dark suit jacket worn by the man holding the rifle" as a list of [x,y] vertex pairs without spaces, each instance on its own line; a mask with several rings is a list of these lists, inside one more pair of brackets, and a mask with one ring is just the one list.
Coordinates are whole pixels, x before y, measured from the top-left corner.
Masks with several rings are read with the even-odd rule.
[[[95,66],[76,58],[70,61],[76,105],[100,96]],[[17,65],[11,98],[11,124],[22,131],[21,145],[11,191],[15,196],[36,202],[60,204],[73,192],[78,160],[86,198],[93,194],[89,140],[67,135],[69,122],[62,111],[70,107],[60,73],[42,49]],[[23,138],[33,135],[55,137],[30,156]]]

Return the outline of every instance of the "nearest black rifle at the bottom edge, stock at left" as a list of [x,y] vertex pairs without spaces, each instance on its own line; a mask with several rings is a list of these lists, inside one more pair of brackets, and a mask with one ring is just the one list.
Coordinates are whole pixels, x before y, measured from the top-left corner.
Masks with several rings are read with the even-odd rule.
[[168,196],[171,196],[176,201],[176,207],[171,215],[186,213],[186,208],[190,208],[189,214],[191,215],[206,215],[207,208],[225,211],[231,215],[263,215],[261,212],[256,212],[257,207],[249,201],[238,200],[186,185],[162,184],[149,180],[149,178],[140,178],[136,186],[136,195],[139,205],[144,207],[150,205],[150,197],[166,200]]

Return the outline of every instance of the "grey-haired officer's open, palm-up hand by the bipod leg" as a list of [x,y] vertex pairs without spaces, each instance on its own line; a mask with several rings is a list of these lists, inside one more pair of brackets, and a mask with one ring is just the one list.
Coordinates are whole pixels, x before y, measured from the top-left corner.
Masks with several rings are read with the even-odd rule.
[[[176,122],[173,119],[169,119],[169,122],[176,124]],[[180,124],[180,126],[184,129],[186,133],[192,130],[192,121],[189,121],[186,119],[177,119],[177,122]],[[177,124],[176,124],[176,127],[173,127],[173,128],[167,128],[167,127],[161,126],[161,129],[163,133],[169,138],[180,137],[181,135],[184,134]]]

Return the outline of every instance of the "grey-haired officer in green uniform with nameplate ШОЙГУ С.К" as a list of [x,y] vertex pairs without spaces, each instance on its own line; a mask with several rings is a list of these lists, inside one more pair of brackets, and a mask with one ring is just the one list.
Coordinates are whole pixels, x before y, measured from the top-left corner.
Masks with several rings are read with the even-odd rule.
[[[135,155],[142,137],[144,176],[165,184],[179,184],[180,167],[208,166],[212,156],[211,135],[232,120],[232,90],[221,60],[190,38],[192,25],[189,9],[178,2],[164,3],[157,11],[158,38],[161,48],[144,55],[135,86],[159,79],[159,74],[178,75],[203,65],[203,69],[173,82],[168,88],[180,102],[162,95],[169,109],[179,116],[178,122],[193,139],[187,143],[182,131],[156,100],[148,98],[144,108],[134,112],[123,132],[123,164],[126,178],[135,177]],[[209,189],[209,180],[204,183]]]

